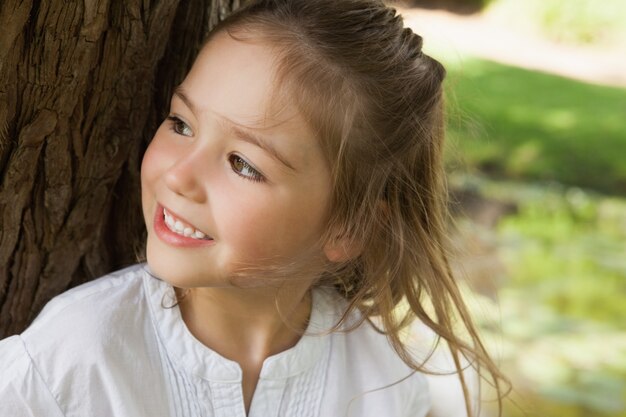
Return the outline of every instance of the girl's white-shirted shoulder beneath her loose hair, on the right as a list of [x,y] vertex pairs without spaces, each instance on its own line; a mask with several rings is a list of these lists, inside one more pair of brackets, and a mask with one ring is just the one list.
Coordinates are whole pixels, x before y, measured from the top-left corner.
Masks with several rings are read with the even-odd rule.
[[[334,317],[338,319],[345,311],[346,302],[324,292],[335,305]],[[350,320],[354,323],[360,319],[359,312],[353,313],[346,328],[350,327]],[[329,376],[329,383],[340,387],[360,384],[361,392],[368,394],[355,396],[357,400],[352,406],[358,408],[362,403],[368,412],[381,404],[388,406],[404,402],[411,412],[398,415],[424,415],[429,409],[432,416],[465,415],[463,389],[445,343],[439,343],[436,334],[419,321],[407,328],[405,344],[415,363],[422,365],[421,372],[414,371],[398,356],[375,324],[364,321],[352,331],[332,334],[330,367],[337,372]],[[464,373],[472,400],[477,401],[477,374],[469,366]],[[410,398],[409,403],[407,398]],[[334,400],[341,401],[340,398]],[[367,413],[364,411],[364,414]],[[384,410],[381,409],[379,415],[385,415]]]

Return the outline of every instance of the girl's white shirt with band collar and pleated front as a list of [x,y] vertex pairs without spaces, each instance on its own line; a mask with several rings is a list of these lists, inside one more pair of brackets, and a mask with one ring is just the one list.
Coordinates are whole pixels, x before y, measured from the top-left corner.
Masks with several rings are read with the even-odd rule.
[[[193,337],[173,296],[136,265],[54,298],[0,341],[0,416],[244,417],[241,368]],[[426,378],[371,325],[322,334],[343,306],[314,291],[307,334],[265,360],[249,417],[427,414]]]

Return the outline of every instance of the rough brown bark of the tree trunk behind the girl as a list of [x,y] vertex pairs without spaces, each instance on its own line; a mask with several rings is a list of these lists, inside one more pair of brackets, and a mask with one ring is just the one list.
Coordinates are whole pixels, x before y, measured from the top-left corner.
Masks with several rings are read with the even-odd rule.
[[0,2],[0,338],[136,261],[143,150],[239,3]]

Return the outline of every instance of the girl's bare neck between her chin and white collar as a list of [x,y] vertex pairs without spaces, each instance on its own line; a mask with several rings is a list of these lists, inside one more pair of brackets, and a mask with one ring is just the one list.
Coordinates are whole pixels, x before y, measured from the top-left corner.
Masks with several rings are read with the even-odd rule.
[[293,347],[311,312],[308,287],[194,288],[180,302],[189,331],[242,368]]

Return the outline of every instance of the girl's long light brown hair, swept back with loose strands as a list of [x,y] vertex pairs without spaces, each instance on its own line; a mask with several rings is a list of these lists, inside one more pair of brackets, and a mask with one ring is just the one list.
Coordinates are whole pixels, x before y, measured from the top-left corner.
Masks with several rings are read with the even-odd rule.
[[[422,53],[422,38],[377,0],[253,1],[212,33],[223,30],[276,47],[277,85],[331,167],[324,239],[349,237],[359,254],[329,266],[317,285],[330,283],[347,300],[344,319],[354,310],[376,318],[415,370],[423,363],[401,330],[416,317],[430,327],[452,353],[468,415],[464,360],[501,394],[508,382],[479,338],[446,252],[445,70]],[[398,314],[402,302],[408,308]]]

